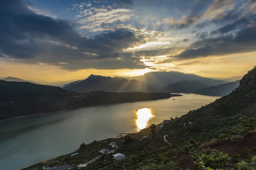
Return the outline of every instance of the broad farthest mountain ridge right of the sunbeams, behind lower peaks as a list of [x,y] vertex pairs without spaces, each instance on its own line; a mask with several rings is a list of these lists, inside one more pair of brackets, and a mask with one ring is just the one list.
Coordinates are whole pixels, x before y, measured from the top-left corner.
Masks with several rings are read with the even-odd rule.
[[143,76],[134,76],[134,77],[126,77],[127,79],[136,79],[140,81],[145,81],[149,85],[153,85],[154,87],[160,89],[166,85],[182,82],[182,81],[198,81],[203,85],[213,86],[227,83],[223,80],[215,80],[211,78],[205,78],[202,76],[197,76],[195,74],[186,74],[177,71],[156,71],[149,72],[144,74]]

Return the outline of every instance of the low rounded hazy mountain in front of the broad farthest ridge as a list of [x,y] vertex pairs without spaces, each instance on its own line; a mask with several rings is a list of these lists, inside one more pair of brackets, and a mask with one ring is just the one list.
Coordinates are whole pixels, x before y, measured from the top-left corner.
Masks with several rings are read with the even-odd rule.
[[160,89],[161,92],[169,93],[192,93],[201,88],[208,87],[198,81],[182,81],[174,84],[166,85]]

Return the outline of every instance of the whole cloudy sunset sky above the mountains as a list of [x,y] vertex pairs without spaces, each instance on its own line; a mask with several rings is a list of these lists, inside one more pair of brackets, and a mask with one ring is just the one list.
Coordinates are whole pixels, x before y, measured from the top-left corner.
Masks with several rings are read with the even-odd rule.
[[0,1],[0,77],[228,77],[255,65],[256,0]]

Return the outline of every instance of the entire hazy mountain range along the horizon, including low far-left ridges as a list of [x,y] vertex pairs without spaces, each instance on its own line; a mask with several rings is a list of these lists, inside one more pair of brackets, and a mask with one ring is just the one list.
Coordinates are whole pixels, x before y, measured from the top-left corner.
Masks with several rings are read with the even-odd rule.
[[[219,79],[216,79],[219,78]],[[234,79],[240,79],[241,76],[232,77],[213,77],[206,78],[197,76],[195,74],[185,74],[176,71],[156,71],[149,72],[143,76],[134,77],[108,77],[108,76],[95,76],[91,75],[84,80],[69,80],[58,82],[46,82],[43,80],[27,81],[16,77],[2,77],[6,81],[16,82],[30,82],[34,84],[55,85],[62,86],[67,90],[74,92],[91,92],[95,90],[113,91],[113,92],[127,92],[127,91],[140,91],[140,92],[169,92],[169,93],[202,93],[205,95],[218,95],[228,94],[235,89],[234,83],[224,85],[225,88],[215,88],[213,93],[212,88],[209,93],[207,90],[201,90],[211,86],[221,85],[230,82]],[[222,79],[222,80],[220,80]],[[68,84],[67,84],[68,83]],[[218,90],[220,90],[218,92]],[[198,92],[197,92],[198,91]]]

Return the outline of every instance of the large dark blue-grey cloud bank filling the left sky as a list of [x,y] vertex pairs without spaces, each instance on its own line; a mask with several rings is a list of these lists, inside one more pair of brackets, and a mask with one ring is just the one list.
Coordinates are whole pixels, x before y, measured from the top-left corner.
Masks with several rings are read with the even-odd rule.
[[143,36],[117,30],[85,37],[64,20],[35,13],[25,0],[0,2],[0,32],[0,57],[52,65],[61,62],[66,63],[61,65],[64,68],[71,68],[70,64],[76,63],[77,67],[73,68],[77,69],[84,68],[80,63],[87,60],[95,68],[98,63],[97,68],[100,68],[100,59],[109,63],[107,59],[119,58],[118,68],[136,68],[138,65],[145,68],[141,66],[140,58],[122,51],[144,42]]

